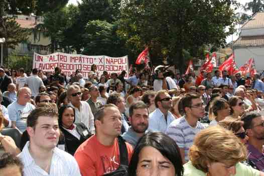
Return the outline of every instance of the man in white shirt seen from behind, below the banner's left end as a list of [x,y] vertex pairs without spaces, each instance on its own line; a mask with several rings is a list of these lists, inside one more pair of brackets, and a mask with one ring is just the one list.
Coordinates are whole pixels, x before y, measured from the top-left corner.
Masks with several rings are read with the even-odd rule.
[[25,82],[25,86],[29,87],[32,92],[32,97],[39,94],[40,86],[44,85],[42,79],[38,76],[38,68],[32,70],[32,76],[29,76]]

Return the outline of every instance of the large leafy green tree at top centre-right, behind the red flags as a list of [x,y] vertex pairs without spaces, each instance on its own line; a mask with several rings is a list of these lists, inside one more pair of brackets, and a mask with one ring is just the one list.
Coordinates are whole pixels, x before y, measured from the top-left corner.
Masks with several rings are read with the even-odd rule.
[[[233,31],[235,1],[124,0],[118,34],[127,38],[138,53],[147,45],[153,62],[170,57],[184,71],[184,50],[201,55],[201,47],[217,48]],[[226,28],[229,32],[226,32]]]

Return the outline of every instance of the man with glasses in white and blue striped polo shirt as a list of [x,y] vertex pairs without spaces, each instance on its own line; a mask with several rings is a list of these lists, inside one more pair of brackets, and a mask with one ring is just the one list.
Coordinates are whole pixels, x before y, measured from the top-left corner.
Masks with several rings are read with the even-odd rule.
[[185,116],[174,120],[168,127],[166,134],[175,140],[180,147],[181,157],[185,163],[189,160],[189,148],[193,144],[195,135],[204,129],[198,120],[204,117],[205,106],[198,93],[185,94],[181,103]]

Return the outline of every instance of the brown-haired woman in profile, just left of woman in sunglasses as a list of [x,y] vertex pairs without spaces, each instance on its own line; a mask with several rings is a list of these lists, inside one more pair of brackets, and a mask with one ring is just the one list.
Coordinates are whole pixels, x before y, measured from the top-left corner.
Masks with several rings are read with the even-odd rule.
[[221,120],[230,115],[230,107],[225,99],[215,99],[209,108],[210,125],[217,125]]

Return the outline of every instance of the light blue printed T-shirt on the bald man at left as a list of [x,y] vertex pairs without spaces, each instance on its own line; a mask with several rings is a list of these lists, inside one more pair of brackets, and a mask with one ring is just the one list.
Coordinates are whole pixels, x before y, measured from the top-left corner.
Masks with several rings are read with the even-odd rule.
[[27,128],[27,119],[35,106],[27,103],[25,106],[13,102],[8,106],[8,114],[11,121],[16,122],[16,126],[23,133]]

